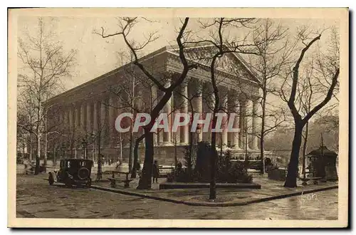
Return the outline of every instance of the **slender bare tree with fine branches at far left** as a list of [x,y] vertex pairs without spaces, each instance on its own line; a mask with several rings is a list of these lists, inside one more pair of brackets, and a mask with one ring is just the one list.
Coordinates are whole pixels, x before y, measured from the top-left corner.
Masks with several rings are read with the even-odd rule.
[[34,131],[37,141],[36,171],[38,174],[41,140],[45,132],[46,107],[43,103],[61,88],[61,78],[70,74],[75,51],[66,53],[61,43],[52,41],[42,19],[38,19],[36,36],[19,38],[18,57],[23,65],[19,71],[19,85],[26,90],[28,102],[35,110]]

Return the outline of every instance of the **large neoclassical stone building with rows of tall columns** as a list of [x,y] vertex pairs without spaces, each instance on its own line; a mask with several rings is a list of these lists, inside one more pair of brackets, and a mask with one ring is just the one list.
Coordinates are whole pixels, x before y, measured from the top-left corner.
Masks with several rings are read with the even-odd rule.
[[[182,71],[178,48],[166,46],[140,58],[150,73],[164,85],[169,85],[174,74]],[[211,76],[209,46],[194,46],[187,49],[187,57],[197,63],[198,68],[189,71],[184,84],[172,95],[165,105],[165,113],[212,113]],[[221,95],[221,105],[226,113],[237,113],[234,128],[239,132],[226,132],[218,135],[218,145],[229,146],[234,157],[243,159],[246,152],[254,158],[259,157],[258,150],[258,93],[259,80],[248,68],[244,60],[233,53],[226,54],[216,63],[216,77]],[[134,88],[135,86],[135,88]],[[86,157],[94,159],[100,152],[107,159],[116,161],[122,156],[127,162],[130,133],[119,133],[115,130],[115,120],[122,112],[149,113],[162,93],[140,69],[128,63],[125,66],[105,73],[98,78],[68,90],[48,100],[48,126],[54,126],[61,132],[56,143],[63,150],[59,155],[66,157]],[[134,109],[132,109],[134,104]],[[172,115],[169,124],[172,125]],[[100,136],[100,144],[93,141]],[[140,133],[135,134],[135,137]],[[174,156],[182,160],[183,146],[189,141],[209,141],[210,132],[189,134],[189,126],[178,132],[157,131],[155,137],[155,157],[159,164],[172,164]],[[192,138],[189,140],[189,138]],[[140,145],[140,157],[144,151]],[[58,154],[57,154],[58,155]],[[143,158],[142,158],[143,159]]]

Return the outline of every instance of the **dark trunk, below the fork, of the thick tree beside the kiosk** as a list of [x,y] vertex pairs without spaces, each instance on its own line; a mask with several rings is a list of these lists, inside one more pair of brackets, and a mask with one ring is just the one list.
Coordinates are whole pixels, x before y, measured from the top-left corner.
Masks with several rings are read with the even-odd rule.
[[302,144],[302,132],[303,132],[303,125],[299,122],[295,122],[292,151],[290,152],[288,174],[286,177],[286,182],[284,183],[284,187],[289,187],[289,188],[297,187],[298,160],[299,160],[300,145]]

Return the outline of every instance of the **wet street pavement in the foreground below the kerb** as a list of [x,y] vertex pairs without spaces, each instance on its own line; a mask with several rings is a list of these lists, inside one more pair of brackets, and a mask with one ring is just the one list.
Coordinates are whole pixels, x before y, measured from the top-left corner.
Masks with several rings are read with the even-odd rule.
[[17,174],[16,216],[71,219],[337,219],[337,189],[236,207],[198,207],[104,192],[49,186]]

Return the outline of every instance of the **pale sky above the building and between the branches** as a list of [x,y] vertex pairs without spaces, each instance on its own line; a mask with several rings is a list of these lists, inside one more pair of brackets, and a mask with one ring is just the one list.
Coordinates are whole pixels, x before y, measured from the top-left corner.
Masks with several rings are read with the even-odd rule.
[[[76,49],[76,66],[72,78],[63,78],[63,82],[67,89],[73,88],[76,85],[85,83],[88,80],[103,75],[115,68],[120,67],[117,60],[117,52],[127,51],[125,42],[121,36],[112,38],[101,38],[93,33],[100,31],[100,27],[104,27],[108,33],[117,31],[117,19],[113,17],[43,17],[46,23],[46,30],[51,30],[56,33],[54,40],[61,41],[63,48],[66,51]],[[177,37],[177,28],[182,25],[178,18],[150,19],[152,22],[141,20],[133,28],[130,33],[130,39],[135,41],[145,41],[145,36],[152,31],[157,31],[159,38],[147,45],[140,53],[145,55],[152,51],[156,51],[163,46],[176,45],[175,38]],[[290,28],[290,31],[296,31],[298,26],[309,25],[313,28],[325,28],[337,26],[336,20],[333,19],[276,19],[281,21],[283,26]],[[24,32],[33,33],[36,28],[38,17],[36,16],[20,16],[18,20],[18,36],[24,37]],[[188,28],[194,31],[199,30],[197,19],[190,19]],[[246,31],[239,29],[238,31],[229,32],[231,35],[244,35]],[[200,31],[199,35],[207,36],[206,31]],[[323,42],[320,40],[320,43]]]

